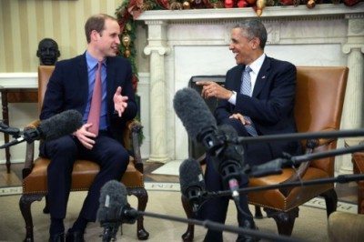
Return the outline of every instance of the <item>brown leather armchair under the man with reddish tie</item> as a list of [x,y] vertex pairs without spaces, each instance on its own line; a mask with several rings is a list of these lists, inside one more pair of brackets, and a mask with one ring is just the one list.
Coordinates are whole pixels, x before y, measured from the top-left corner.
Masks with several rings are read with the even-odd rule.
[[[45,88],[49,77],[52,75],[54,66],[38,67],[38,109],[42,107],[45,96]],[[35,128],[39,125],[36,120],[26,128]],[[132,149],[133,156],[130,156],[129,165],[121,182],[125,184],[128,195],[137,197],[137,209],[144,211],[147,207],[147,190],[144,187],[143,163],[140,156],[138,133],[142,126],[136,121],[131,121],[123,131],[124,145],[128,150]],[[131,141],[130,141],[131,139]],[[25,219],[26,237],[25,241],[34,241],[33,219],[31,205],[37,200],[40,201],[47,193],[46,168],[50,160],[38,156],[35,158],[34,143],[26,145],[25,166],[23,169],[23,195],[20,197],[19,207]],[[88,160],[76,160],[72,172],[71,191],[85,191],[90,187],[99,166]],[[47,207],[45,205],[45,212]],[[137,219],[136,235],[138,239],[147,239],[149,233],[144,228],[143,217]]]

